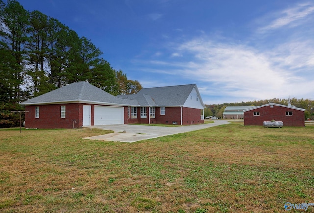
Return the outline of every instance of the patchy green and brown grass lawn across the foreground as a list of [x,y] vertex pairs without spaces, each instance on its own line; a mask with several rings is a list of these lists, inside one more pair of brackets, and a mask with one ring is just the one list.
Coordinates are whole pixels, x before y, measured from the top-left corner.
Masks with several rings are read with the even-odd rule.
[[105,133],[0,130],[0,212],[272,213],[314,203],[313,125],[81,139]]

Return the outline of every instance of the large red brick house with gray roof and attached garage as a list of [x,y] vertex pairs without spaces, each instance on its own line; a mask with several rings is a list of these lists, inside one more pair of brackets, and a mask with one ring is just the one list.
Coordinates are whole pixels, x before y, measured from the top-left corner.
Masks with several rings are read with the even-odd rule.
[[200,124],[205,105],[196,84],[142,89],[113,96],[76,82],[32,98],[25,105],[26,128],[77,128],[107,124]]

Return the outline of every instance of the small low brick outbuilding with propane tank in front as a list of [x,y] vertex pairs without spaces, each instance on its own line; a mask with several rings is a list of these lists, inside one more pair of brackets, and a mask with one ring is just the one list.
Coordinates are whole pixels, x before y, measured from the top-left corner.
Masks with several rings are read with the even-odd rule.
[[269,103],[243,110],[244,125],[263,125],[264,121],[282,121],[284,126],[304,127],[305,109]]

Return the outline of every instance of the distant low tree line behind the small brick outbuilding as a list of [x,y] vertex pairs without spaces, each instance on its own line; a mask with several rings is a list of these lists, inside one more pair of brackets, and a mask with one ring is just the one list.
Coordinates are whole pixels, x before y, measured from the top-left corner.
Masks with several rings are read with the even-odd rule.
[[[276,104],[282,104],[282,105],[288,105],[289,99],[264,99],[259,101],[248,101],[248,102],[240,102],[240,103],[224,103],[224,104],[212,104],[212,105],[205,105],[206,108],[204,109],[204,116],[216,116],[217,118],[221,118],[222,114],[227,106],[261,106],[268,103],[276,103]],[[305,109],[305,119],[311,118],[314,119],[314,101],[310,99],[297,99],[292,98],[290,99],[290,103],[293,106],[296,106],[298,108]]]

